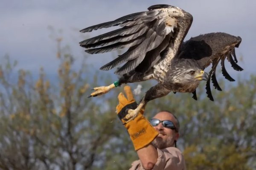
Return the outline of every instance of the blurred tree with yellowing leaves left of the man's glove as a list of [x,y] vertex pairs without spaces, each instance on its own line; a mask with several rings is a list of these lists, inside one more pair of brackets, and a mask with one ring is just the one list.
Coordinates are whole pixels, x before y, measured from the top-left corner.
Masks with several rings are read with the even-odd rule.
[[[113,145],[122,144],[122,125],[115,108],[110,109],[117,100],[87,98],[88,88],[94,86],[89,82],[105,80],[97,72],[92,74],[86,58],[80,69],[72,68],[74,58],[68,47],[61,48],[61,38],[56,41],[60,66],[52,82],[43,68],[36,81],[24,70],[16,78],[17,63],[9,57],[0,66],[0,169],[101,169],[114,153]],[[115,152],[128,148],[131,144]]]

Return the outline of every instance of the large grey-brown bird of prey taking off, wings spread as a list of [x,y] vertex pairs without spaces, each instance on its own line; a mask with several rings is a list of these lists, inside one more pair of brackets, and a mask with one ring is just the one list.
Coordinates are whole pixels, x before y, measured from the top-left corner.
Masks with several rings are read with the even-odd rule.
[[[148,11],[137,12],[116,20],[84,28],[90,32],[100,28],[121,26],[121,28],[80,42],[89,54],[105,53],[120,48],[128,50],[100,69],[108,71],[119,67],[115,74],[118,81],[109,86],[96,87],[90,96],[105,94],[124,83],[156,79],[158,84],[151,87],[136,109],[129,109],[122,118],[129,122],[137,116],[146,102],[173,91],[192,93],[197,99],[196,88],[201,80],[206,80],[207,96],[213,101],[210,79],[213,86],[221,91],[215,71],[221,62],[222,74],[235,81],[227,73],[224,60],[227,58],[236,71],[243,69],[237,65],[235,47],[239,47],[241,37],[226,33],[209,33],[192,37],[183,42],[193,17],[181,8],[169,5],[154,5]],[[209,74],[204,69],[212,64]],[[89,96],[89,97],[90,97]]]

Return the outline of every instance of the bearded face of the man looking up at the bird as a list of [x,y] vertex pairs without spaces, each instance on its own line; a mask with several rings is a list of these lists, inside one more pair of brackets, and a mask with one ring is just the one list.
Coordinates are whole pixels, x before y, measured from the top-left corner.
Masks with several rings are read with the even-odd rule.
[[[175,120],[175,117],[168,112],[159,112],[157,113],[153,119],[159,119],[161,121],[163,120],[170,120],[174,123],[175,127],[177,127],[177,122]],[[163,149],[166,147],[173,147],[175,140],[179,138],[179,133],[175,130],[163,127],[162,122],[159,123],[157,126],[154,126],[154,128],[159,132],[159,135],[154,139],[152,144],[159,148]]]

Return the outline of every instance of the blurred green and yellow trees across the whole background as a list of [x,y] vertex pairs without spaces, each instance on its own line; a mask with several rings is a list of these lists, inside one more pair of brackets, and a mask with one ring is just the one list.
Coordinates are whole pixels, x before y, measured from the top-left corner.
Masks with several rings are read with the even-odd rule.
[[[69,48],[57,40],[58,78],[49,80],[44,68],[36,80],[29,71],[15,72],[17,62],[6,57],[0,65],[0,169],[2,170],[122,170],[137,154],[116,118],[116,88],[87,98],[90,90],[115,79],[81,62],[74,67]],[[236,84],[220,81],[205,95],[205,82],[192,94],[172,94],[150,101],[150,119],[169,110],[180,121],[177,146],[188,170],[256,169],[256,76]],[[142,82],[143,94],[155,82]],[[132,88],[136,88],[136,83]],[[142,97],[136,96],[137,101]]]

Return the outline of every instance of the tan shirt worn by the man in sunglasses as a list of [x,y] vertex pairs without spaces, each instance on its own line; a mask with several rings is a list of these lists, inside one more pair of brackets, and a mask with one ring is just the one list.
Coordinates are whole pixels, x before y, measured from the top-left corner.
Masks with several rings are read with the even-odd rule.
[[[185,161],[182,153],[176,147],[157,149],[157,163],[152,170],[186,170]],[[140,160],[131,164],[130,170],[144,170]]]

